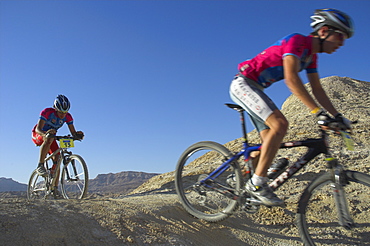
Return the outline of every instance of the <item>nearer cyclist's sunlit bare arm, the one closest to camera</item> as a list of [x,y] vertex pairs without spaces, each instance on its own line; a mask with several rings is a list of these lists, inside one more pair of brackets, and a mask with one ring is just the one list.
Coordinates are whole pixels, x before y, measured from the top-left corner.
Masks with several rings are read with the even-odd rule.
[[310,110],[318,107],[303,85],[299,72],[299,59],[293,55],[287,55],[283,60],[285,84],[289,90],[298,97]]

